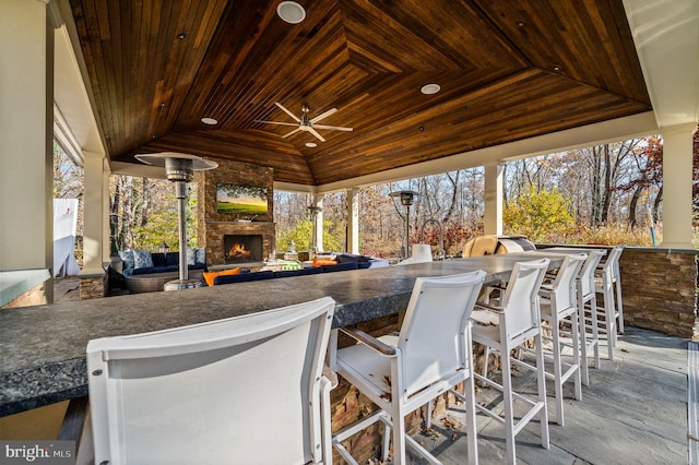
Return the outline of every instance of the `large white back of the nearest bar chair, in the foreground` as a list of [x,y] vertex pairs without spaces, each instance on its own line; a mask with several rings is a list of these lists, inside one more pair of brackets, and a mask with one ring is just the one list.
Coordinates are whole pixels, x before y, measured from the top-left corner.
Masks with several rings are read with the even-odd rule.
[[325,297],[90,341],[95,463],[331,463],[333,311]]

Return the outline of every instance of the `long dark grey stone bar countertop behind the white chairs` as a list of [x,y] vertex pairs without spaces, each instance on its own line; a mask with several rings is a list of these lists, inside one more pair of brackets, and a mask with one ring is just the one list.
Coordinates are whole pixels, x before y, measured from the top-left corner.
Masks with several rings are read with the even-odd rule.
[[[419,276],[484,270],[494,284],[507,281],[516,262],[544,255],[518,252],[5,309],[0,311],[0,417],[87,395],[85,347],[93,338],[202,323],[323,296],[336,301],[333,327],[347,326],[404,310]],[[548,258],[552,266],[562,260]]]

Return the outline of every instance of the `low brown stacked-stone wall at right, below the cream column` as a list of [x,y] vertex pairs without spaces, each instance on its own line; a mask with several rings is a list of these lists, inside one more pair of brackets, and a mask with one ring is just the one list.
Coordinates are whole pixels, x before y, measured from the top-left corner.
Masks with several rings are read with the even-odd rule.
[[627,326],[671,336],[694,336],[697,317],[696,253],[692,250],[624,250],[619,271]]

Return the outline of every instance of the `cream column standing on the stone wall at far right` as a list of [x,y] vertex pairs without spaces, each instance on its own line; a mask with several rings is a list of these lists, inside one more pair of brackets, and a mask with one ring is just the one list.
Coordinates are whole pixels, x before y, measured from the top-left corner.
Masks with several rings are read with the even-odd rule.
[[692,135],[695,123],[665,127],[663,135],[663,248],[691,245]]

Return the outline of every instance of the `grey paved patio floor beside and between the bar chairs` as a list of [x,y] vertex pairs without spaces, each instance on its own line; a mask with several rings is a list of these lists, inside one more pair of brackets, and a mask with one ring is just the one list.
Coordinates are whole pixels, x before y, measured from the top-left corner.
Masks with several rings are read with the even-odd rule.
[[[603,342],[604,343],[604,342]],[[689,339],[627,327],[619,336],[614,361],[602,357],[602,367],[590,370],[590,386],[582,400],[566,395],[565,426],[555,424],[549,385],[550,449],[541,446],[541,426],[530,422],[517,436],[517,457],[522,464],[687,464],[688,442],[688,345]],[[692,343],[694,344],[694,343]],[[603,344],[600,350],[606,354]],[[692,359],[694,360],[694,359]],[[696,361],[692,361],[696,363]],[[696,368],[695,368],[696,369]],[[690,377],[691,379],[692,377]],[[518,372],[517,384],[534,393],[533,373]],[[692,391],[690,389],[689,391]],[[479,390],[476,402],[500,404],[497,393]],[[691,407],[691,403],[689,404]],[[466,463],[465,434],[446,428],[461,422],[459,408],[447,412],[449,421],[435,421],[438,438],[415,438],[445,464]],[[478,415],[481,464],[506,463],[503,426]],[[413,460],[412,463],[425,463]]]

